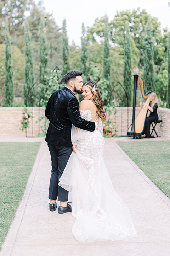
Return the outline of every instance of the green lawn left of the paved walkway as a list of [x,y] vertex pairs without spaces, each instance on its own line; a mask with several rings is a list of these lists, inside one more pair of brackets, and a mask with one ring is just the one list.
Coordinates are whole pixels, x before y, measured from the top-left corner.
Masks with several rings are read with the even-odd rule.
[[26,189],[40,144],[0,143],[0,250]]

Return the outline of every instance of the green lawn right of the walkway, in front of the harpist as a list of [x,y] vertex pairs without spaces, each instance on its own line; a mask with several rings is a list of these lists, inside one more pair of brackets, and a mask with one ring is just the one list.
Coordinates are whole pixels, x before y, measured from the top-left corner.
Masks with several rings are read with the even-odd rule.
[[117,143],[157,187],[170,198],[170,141]]

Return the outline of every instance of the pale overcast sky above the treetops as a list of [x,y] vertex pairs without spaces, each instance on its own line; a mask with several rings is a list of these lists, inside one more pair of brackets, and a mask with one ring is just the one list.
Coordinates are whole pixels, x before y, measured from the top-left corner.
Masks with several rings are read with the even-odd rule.
[[[36,3],[39,0],[35,0]],[[92,26],[95,19],[105,14],[109,21],[113,20],[116,11],[146,9],[152,17],[157,17],[161,27],[170,28],[170,0],[43,0],[47,12],[53,17],[59,27],[62,27],[63,18],[67,22],[67,35],[69,43],[81,45],[81,25]]]

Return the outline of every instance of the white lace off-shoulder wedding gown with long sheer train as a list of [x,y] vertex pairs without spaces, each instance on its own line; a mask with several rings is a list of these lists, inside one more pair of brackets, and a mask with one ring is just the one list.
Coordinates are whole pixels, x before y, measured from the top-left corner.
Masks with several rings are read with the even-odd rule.
[[[90,110],[80,114],[91,121]],[[88,242],[136,237],[129,209],[115,192],[104,164],[103,130],[77,128],[72,139],[78,140],[77,153],[71,154],[59,185],[72,192],[73,235]]]

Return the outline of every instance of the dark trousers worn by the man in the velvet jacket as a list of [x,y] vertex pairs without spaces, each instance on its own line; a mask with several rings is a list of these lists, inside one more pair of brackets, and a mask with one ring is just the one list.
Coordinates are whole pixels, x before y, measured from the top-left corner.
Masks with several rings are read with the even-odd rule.
[[58,201],[68,201],[68,191],[58,186],[60,177],[66,167],[68,159],[72,153],[72,147],[70,146],[56,146],[48,143],[48,147],[51,155],[51,178],[49,186],[49,199]]

